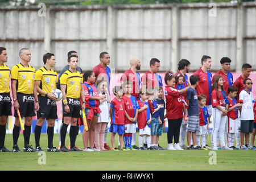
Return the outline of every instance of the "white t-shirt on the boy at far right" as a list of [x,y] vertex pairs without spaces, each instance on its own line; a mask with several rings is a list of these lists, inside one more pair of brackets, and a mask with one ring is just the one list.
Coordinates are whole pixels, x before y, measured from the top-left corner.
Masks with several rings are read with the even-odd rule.
[[253,93],[242,90],[239,94],[239,99],[243,101],[240,120],[254,120]]

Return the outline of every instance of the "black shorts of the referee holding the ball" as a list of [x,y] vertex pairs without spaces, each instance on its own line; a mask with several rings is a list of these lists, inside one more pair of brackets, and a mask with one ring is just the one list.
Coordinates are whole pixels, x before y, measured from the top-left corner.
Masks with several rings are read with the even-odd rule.
[[39,100],[39,111],[37,112],[38,119],[57,119],[57,105],[56,101],[50,100],[48,97],[38,95]]

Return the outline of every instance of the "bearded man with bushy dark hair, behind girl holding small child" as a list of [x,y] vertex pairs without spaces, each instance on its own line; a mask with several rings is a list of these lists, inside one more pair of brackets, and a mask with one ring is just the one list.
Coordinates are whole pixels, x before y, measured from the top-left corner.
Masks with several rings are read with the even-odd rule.
[[[187,59],[181,59],[178,64],[179,71],[177,71],[177,73],[174,74],[174,77],[179,74],[185,77],[185,80],[184,80],[185,88],[187,86],[190,86],[188,76],[186,75],[186,73],[189,72],[190,64],[191,63]],[[183,96],[186,99],[187,93],[184,93]],[[184,143],[184,140],[187,136],[187,125],[188,125],[188,122],[185,122],[184,119],[182,119],[182,123],[180,127],[180,147],[183,148],[184,150],[187,148],[187,146],[185,146],[185,143]]]

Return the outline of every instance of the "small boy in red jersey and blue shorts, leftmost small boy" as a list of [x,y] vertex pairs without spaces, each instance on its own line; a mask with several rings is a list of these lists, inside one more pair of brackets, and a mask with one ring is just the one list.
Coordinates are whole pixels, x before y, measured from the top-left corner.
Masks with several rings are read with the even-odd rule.
[[118,151],[115,147],[115,134],[118,133],[121,150],[123,148],[123,134],[125,133],[125,102],[122,100],[123,90],[120,86],[113,88],[115,98],[111,101],[109,115],[111,117],[110,129],[112,150]]

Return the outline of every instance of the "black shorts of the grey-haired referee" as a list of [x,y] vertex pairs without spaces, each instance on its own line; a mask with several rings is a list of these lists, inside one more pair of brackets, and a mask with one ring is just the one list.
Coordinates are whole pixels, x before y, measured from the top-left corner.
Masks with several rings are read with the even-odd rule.
[[[35,116],[35,100],[32,94],[17,93],[19,102],[19,112],[21,117]],[[14,117],[18,117],[16,109],[14,109]]]

